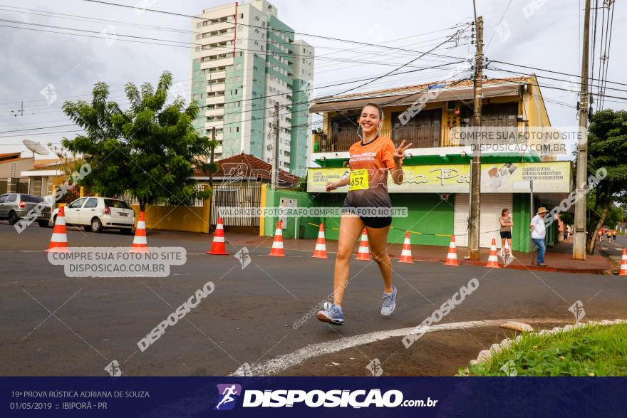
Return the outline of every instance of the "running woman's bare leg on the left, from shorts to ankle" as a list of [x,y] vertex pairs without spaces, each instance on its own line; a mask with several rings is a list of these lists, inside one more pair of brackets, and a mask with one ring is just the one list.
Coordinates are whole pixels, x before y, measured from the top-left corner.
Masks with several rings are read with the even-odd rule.
[[364,226],[359,216],[353,214],[342,215],[336,267],[333,271],[333,303],[336,305],[342,305],[344,289],[348,286],[348,266],[351,262],[353,249],[361,236]]

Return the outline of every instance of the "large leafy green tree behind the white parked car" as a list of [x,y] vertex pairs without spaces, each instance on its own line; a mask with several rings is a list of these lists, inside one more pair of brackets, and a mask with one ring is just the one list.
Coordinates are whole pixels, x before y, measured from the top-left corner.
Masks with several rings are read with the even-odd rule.
[[137,197],[140,210],[148,204],[185,204],[191,198],[207,199],[211,191],[196,192],[194,169],[215,171],[206,156],[216,142],[199,136],[192,121],[199,107],[178,97],[167,104],[172,74],[164,72],[153,88],[125,85],[130,102],[127,110],[108,100],[109,88],[96,83],[91,103],[66,102],[63,112],[86,130],[74,140],[63,139],[63,146],[81,153],[92,167],[82,180],[92,192],[114,196],[125,191]]

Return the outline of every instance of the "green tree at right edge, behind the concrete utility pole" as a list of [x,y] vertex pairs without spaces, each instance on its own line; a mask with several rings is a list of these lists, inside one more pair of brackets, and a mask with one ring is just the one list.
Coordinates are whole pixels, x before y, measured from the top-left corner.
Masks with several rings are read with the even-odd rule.
[[595,237],[606,221],[613,202],[627,195],[627,111],[601,110],[591,118],[588,135],[588,173],[606,169],[607,177],[599,182],[592,200],[593,216],[588,219],[586,251],[594,253]]

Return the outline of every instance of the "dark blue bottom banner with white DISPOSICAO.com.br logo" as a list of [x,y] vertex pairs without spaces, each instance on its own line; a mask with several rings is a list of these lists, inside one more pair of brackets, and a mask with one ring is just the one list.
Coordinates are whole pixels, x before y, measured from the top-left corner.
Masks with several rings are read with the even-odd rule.
[[626,390],[623,377],[0,377],[0,416],[625,417]]

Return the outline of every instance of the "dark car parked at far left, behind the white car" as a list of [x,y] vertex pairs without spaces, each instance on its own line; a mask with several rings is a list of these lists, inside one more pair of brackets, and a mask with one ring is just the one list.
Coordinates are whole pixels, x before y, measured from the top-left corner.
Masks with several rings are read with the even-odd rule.
[[32,219],[39,226],[48,226],[50,213],[50,205],[42,196],[21,193],[0,195],[0,219],[9,219],[11,225],[17,224],[20,219],[26,219],[26,221]]

